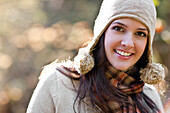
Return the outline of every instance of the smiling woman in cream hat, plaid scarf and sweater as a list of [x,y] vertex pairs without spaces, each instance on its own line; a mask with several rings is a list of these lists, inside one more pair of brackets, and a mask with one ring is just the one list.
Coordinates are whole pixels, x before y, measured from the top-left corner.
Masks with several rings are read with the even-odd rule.
[[104,0],[94,37],[74,61],[46,66],[27,113],[158,113],[152,85],[164,69],[152,62],[152,0]]

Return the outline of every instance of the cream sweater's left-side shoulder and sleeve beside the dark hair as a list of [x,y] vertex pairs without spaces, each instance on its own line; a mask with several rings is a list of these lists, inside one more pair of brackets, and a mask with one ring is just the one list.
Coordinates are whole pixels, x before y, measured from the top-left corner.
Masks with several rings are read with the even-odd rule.
[[[53,113],[65,109],[65,99],[70,100],[73,92],[71,78],[60,73],[56,68],[61,64],[53,62],[44,66],[39,82],[31,97],[27,113]],[[70,103],[72,100],[69,101]],[[44,106],[45,105],[45,106]]]

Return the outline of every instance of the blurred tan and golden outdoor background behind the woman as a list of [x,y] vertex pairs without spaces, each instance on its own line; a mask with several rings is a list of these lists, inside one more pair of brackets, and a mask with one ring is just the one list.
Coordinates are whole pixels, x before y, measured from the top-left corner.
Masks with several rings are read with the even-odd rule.
[[[102,0],[0,0],[0,113],[25,113],[42,67],[72,59],[89,37]],[[158,11],[154,61],[170,82],[170,0]],[[166,113],[170,89],[157,86]],[[162,86],[164,88],[160,88]],[[165,91],[165,89],[168,89]]]

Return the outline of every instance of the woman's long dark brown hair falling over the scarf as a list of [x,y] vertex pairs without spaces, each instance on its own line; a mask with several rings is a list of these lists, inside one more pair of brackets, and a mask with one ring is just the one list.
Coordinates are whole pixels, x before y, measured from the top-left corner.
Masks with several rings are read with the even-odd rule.
[[[136,63],[136,70],[138,71],[135,71],[134,77],[136,77],[136,75],[140,76],[139,69],[146,67],[148,63],[147,49],[148,48],[146,46],[143,56]],[[143,92],[140,94],[145,100],[147,106],[137,99],[136,94],[130,95],[134,101],[134,103],[131,103],[128,100],[129,95],[119,91],[108,82],[105,76],[107,58],[104,50],[104,35],[101,36],[99,42],[92,52],[95,59],[95,66],[85,75],[85,77],[84,75],[80,77],[80,85],[77,91],[77,97],[74,102],[74,110],[76,101],[79,103],[78,112],[80,112],[81,102],[85,97],[89,97],[92,105],[91,107],[93,107],[96,111],[102,110],[105,113],[111,113],[108,101],[117,101],[120,103],[130,104],[133,107],[134,112],[136,111],[135,104],[142,113],[149,112],[151,110],[150,108],[152,108],[153,113],[159,111],[155,103]],[[137,76],[135,79],[140,79],[139,76]]]

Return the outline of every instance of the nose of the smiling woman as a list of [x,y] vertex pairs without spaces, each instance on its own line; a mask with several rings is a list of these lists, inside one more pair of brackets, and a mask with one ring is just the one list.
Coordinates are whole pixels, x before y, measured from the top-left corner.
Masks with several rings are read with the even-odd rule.
[[133,48],[134,47],[133,34],[132,33],[126,34],[121,40],[121,45],[126,48]]

